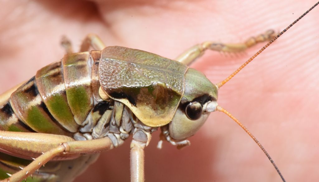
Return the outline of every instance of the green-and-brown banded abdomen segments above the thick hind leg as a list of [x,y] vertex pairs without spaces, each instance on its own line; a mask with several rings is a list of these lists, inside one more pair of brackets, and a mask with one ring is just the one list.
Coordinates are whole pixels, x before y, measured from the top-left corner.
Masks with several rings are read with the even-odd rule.
[[99,59],[100,51],[69,54],[38,70],[1,103],[0,129],[72,136],[93,109],[93,92],[99,97]]

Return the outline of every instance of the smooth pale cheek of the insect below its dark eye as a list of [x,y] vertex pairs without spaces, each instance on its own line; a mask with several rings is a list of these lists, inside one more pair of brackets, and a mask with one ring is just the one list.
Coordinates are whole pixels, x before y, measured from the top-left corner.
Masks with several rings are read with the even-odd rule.
[[169,134],[176,140],[181,140],[194,135],[204,124],[209,113],[204,113],[197,120],[190,120],[184,112],[177,109],[173,120],[169,124]]

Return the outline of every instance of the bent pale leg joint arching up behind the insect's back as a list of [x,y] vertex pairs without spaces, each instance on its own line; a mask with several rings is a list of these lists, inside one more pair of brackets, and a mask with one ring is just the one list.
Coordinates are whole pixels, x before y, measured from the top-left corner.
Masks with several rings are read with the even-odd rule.
[[88,34],[82,42],[80,52],[89,51],[90,47],[93,47],[93,50],[102,50],[106,46],[97,35],[90,33]]

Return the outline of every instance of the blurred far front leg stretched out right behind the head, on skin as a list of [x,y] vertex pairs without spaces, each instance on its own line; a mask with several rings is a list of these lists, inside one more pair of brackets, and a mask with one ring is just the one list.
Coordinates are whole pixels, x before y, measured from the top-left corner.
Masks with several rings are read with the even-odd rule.
[[219,52],[226,52],[226,53],[238,53],[243,52],[247,48],[252,47],[256,45],[257,43],[269,41],[272,38],[274,38],[277,35],[277,33],[273,30],[268,30],[263,34],[260,34],[256,37],[251,37],[248,40],[246,40],[243,43],[229,43],[224,44],[221,42],[211,42],[206,41],[201,44],[197,44],[193,47],[190,47],[188,50],[183,52],[181,55],[179,55],[175,60],[182,62],[186,65],[191,64],[193,61],[195,61],[197,58],[202,56],[204,52],[208,49],[219,51]]

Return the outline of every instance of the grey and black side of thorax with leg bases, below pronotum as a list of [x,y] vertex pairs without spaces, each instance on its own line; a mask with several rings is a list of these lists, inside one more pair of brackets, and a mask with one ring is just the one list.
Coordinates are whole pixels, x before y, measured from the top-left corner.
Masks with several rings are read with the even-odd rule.
[[148,135],[158,128],[146,126],[127,106],[112,99],[96,103],[85,123],[87,124],[74,134],[76,140],[92,140],[107,136],[115,147],[121,145],[137,130]]

